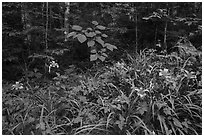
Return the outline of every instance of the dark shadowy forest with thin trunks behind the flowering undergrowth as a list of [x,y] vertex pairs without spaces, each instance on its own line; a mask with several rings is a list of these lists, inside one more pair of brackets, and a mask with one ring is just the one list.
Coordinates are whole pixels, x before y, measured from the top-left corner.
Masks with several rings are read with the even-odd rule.
[[163,49],[172,52],[172,47],[184,37],[201,50],[201,6],[201,3],[2,3],[3,79],[17,80],[34,67],[46,73],[41,68],[45,63],[42,58],[48,56],[55,57],[61,69],[71,64],[89,68],[88,46],[66,36],[72,32],[72,25],[88,28],[92,21],[106,27],[104,31],[109,37],[105,40],[118,48],[107,60],[119,60],[126,52],[155,48],[158,41]]

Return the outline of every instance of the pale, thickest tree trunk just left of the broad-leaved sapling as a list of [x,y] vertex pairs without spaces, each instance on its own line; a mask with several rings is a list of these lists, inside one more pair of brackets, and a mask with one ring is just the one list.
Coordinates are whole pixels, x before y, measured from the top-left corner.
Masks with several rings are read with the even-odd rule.
[[65,13],[64,13],[65,41],[67,41],[67,34],[69,34],[69,11],[70,11],[70,2],[65,2]]

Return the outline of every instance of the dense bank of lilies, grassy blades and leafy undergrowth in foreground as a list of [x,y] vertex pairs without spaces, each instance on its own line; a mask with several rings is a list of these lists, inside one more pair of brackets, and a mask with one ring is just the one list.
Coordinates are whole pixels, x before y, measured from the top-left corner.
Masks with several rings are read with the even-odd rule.
[[[60,67],[60,66],[59,66]],[[3,82],[5,135],[201,135],[202,60],[144,50],[42,82]]]

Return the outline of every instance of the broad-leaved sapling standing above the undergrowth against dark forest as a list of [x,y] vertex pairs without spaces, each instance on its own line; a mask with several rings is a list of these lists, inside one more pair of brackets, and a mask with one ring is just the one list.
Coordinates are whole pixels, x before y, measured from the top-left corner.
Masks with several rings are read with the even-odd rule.
[[97,59],[104,61],[107,55],[107,49],[113,51],[117,49],[116,46],[106,43],[103,39],[107,38],[108,35],[102,33],[106,27],[99,25],[97,21],[92,21],[93,27],[83,29],[79,25],[73,25],[73,32],[70,32],[67,37],[77,38],[80,43],[87,42],[87,46],[90,50],[90,61],[96,61]]

